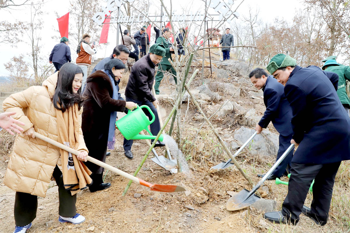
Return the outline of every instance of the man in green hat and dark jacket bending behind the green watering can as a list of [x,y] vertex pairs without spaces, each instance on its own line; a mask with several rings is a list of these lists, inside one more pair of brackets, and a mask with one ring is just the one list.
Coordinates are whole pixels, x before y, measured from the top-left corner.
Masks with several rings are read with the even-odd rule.
[[[157,135],[160,131],[160,123],[156,106],[158,100],[152,94],[152,86],[154,82],[154,68],[165,56],[165,47],[162,44],[154,44],[149,48],[149,53],[140,58],[131,68],[128,84],[125,88],[126,101],[132,101],[139,106],[147,105],[154,114],[154,122],[150,125],[151,133]],[[151,114],[143,108],[145,114],[152,119]],[[153,140],[152,140],[153,141]],[[126,140],[124,138],[124,154],[127,158],[132,159],[131,152],[133,140]],[[161,141],[157,141],[156,146],[165,146]]]

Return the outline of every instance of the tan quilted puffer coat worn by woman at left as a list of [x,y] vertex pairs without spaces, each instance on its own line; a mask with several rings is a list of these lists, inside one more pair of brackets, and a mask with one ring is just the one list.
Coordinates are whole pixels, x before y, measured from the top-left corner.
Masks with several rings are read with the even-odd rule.
[[[10,95],[2,103],[8,112],[16,112],[15,119],[24,122],[25,131],[34,126],[35,132],[55,141],[57,136],[56,109],[51,97],[55,93],[58,72],[51,75],[40,86],[29,87],[23,92]],[[87,151],[81,130],[83,108],[79,111],[78,151]],[[61,166],[59,149],[40,139],[19,134],[8,162],[4,183],[14,191],[45,197],[52,173]]]

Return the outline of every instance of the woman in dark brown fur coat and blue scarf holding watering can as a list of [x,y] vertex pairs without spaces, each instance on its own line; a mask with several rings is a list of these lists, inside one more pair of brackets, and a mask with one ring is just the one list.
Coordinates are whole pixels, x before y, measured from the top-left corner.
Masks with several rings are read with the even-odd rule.
[[[133,102],[118,100],[119,79],[125,70],[125,65],[119,59],[112,59],[105,64],[104,70],[92,73],[86,79],[83,108],[83,135],[89,156],[102,162],[106,161],[107,147],[114,149],[115,123],[117,111],[124,112],[125,108],[133,110],[137,105]],[[111,183],[103,183],[103,168],[85,162],[93,173],[91,192],[107,189]]]

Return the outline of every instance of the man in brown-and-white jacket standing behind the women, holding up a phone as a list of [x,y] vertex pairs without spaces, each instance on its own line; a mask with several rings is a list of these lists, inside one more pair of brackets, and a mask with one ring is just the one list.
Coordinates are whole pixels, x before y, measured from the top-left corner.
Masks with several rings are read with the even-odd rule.
[[83,70],[83,82],[82,87],[86,82],[87,78],[87,68],[91,67],[91,56],[96,53],[95,45],[89,45],[91,36],[89,34],[84,34],[83,39],[80,41],[77,47],[78,57],[75,63]]

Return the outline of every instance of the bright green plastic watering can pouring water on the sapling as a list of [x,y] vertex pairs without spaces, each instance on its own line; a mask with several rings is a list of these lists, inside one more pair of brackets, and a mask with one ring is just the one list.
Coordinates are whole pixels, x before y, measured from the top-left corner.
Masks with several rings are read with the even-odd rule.
[[[142,108],[146,108],[149,111],[152,115],[152,121],[149,121]],[[141,107],[137,105],[137,108],[133,111],[129,109],[128,114],[116,122],[116,126],[127,140],[155,139],[156,136],[153,136],[148,130],[148,125],[152,124],[154,119],[154,114],[147,105],[142,105]],[[147,130],[149,135],[139,134],[142,130]],[[160,135],[158,140],[163,141],[163,134]]]

